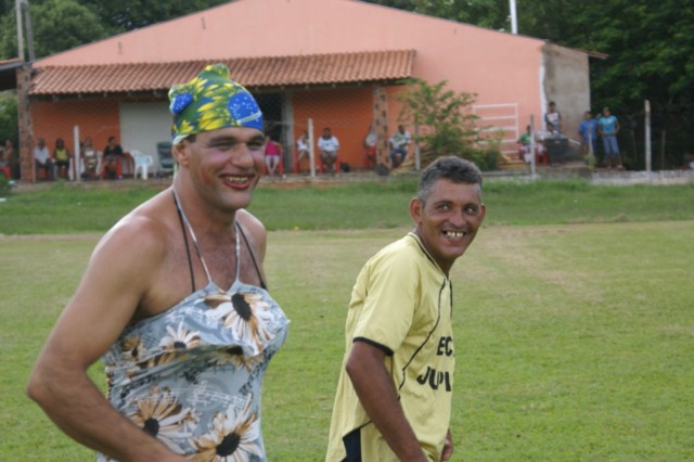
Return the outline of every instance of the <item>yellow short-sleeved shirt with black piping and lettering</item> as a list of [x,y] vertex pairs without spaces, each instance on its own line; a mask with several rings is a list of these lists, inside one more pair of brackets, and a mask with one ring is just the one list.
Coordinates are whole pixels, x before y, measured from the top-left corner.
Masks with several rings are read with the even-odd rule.
[[386,246],[364,265],[347,313],[347,354],[335,396],[327,462],[345,460],[346,435],[350,441],[357,436],[364,462],[398,460],[361,407],[345,372],[355,338],[389,352],[386,369],[404,415],[427,457],[440,459],[455,369],[451,298],[450,280],[414,233]]

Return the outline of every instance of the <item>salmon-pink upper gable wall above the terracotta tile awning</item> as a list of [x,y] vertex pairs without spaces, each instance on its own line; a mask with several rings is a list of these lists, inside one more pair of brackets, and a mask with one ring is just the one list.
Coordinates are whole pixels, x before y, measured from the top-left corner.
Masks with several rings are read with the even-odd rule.
[[415,76],[448,80],[458,91],[477,93],[479,104],[517,102],[527,120],[543,113],[543,43],[354,0],[237,0],[36,66],[415,49]]

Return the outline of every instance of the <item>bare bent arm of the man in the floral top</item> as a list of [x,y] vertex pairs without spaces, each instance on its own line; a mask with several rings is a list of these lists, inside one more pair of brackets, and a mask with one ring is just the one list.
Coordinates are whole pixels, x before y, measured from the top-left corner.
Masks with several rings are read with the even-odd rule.
[[[63,432],[92,449],[121,461],[182,461],[120,415],[87,375],[133,316],[151,281],[147,274],[160,261],[153,234],[124,228],[94,251],[39,355],[27,393]],[[145,238],[136,240],[133,233]]]

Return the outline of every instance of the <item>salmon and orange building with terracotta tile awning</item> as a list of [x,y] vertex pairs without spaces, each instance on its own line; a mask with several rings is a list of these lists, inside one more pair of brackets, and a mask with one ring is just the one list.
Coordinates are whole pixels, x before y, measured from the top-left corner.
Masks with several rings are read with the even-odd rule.
[[73,146],[79,133],[102,149],[113,134],[156,159],[170,140],[167,89],[213,62],[257,95],[286,166],[309,127],[313,142],[330,127],[356,168],[370,127],[385,152],[410,77],[475,93],[475,113],[511,150],[549,101],[569,136],[590,107],[583,51],[357,0],[237,0],[38,60],[29,138]]

